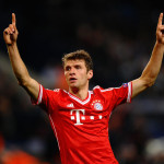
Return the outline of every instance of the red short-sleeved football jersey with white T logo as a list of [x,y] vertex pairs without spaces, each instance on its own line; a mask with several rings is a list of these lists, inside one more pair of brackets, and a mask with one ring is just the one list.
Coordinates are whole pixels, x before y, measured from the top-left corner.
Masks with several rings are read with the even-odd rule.
[[84,101],[65,90],[39,85],[35,104],[49,115],[61,163],[118,164],[108,139],[108,121],[117,105],[131,102],[131,82],[106,90],[95,86]]

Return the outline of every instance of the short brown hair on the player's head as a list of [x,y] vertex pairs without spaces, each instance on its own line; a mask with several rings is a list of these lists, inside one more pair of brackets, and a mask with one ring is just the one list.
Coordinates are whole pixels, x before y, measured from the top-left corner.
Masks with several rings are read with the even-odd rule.
[[83,49],[81,50],[75,50],[73,52],[69,52],[69,54],[66,54],[63,57],[62,57],[62,66],[65,68],[65,63],[66,61],[68,60],[84,60],[85,61],[85,66],[86,66],[86,69],[87,71],[89,70],[93,70],[93,61],[92,61],[92,58],[90,56],[90,54]]

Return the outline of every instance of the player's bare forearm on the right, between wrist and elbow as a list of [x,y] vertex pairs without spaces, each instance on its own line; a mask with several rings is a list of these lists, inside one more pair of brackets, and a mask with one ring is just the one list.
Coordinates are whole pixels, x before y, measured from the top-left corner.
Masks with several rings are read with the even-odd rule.
[[150,61],[141,74],[141,79],[145,80],[148,85],[152,85],[157,78],[162,65],[163,54],[164,45],[156,42]]

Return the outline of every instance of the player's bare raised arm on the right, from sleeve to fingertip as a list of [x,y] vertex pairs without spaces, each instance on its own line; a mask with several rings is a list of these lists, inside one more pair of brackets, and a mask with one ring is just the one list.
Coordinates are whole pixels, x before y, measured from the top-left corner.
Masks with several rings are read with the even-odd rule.
[[154,84],[161,69],[164,54],[164,25],[162,24],[163,13],[160,14],[156,27],[156,43],[152,56],[144,68],[141,77],[132,81],[132,97]]

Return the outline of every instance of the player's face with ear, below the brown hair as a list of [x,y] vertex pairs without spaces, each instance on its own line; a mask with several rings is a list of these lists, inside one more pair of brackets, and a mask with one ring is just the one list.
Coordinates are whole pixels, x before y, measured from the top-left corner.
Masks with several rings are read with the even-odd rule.
[[89,87],[93,71],[86,70],[84,60],[68,60],[65,63],[65,77],[69,87]]

